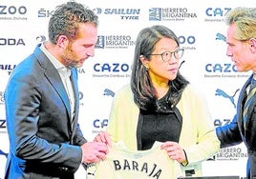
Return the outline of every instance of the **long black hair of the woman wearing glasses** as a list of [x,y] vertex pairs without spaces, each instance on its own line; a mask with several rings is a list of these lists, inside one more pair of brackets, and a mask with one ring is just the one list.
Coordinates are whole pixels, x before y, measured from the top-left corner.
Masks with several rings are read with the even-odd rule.
[[[155,45],[161,38],[167,37],[175,40],[180,47],[179,39],[176,34],[164,26],[153,26],[140,30],[136,41],[134,63],[132,68],[131,89],[134,93],[134,101],[139,106],[139,109],[157,110],[157,93],[153,87],[149,73],[142,65],[139,56],[143,55],[150,60],[152,51]],[[171,93],[167,98],[167,103],[170,107],[175,106],[181,98],[181,91],[189,82],[178,71],[177,77],[169,81]]]

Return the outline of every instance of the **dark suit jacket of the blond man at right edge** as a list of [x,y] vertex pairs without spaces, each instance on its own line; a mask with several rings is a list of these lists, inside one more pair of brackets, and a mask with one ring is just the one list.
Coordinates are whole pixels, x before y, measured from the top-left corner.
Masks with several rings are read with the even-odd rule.
[[245,143],[248,153],[247,163],[247,178],[256,178],[256,95],[253,96],[252,102],[247,112],[247,122],[244,128],[243,111],[246,100],[246,87],[250,84],[252,75],[245,82],[243,89],[241,90],[237,113],[234,116],[232,122],[223,127],[216,129],[218,138],[221,141],[221,148],[234,146]]

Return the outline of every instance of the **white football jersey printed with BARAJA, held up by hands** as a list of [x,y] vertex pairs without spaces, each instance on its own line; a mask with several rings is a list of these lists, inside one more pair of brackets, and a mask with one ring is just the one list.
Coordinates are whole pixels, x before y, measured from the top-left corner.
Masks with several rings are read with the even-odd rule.
[[121,141],[114,143],[104,161],[88,166],[87,179],[176,179],[181,174],[180,164],[170,159],[160,144],[132,151]]

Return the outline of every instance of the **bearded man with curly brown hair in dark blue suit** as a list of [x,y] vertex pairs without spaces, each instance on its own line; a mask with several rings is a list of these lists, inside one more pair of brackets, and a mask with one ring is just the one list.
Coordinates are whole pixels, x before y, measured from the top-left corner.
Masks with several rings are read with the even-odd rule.
[[94,56],[97,16],[75,2],[56,8],[49,41],[11,73],[5,90],[10,153],[5,178],[74,178],[81,164],[105,158],[104,143],[87,142],[77,123],[76,68]]

